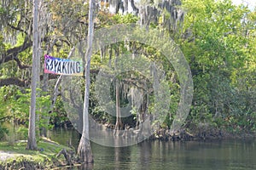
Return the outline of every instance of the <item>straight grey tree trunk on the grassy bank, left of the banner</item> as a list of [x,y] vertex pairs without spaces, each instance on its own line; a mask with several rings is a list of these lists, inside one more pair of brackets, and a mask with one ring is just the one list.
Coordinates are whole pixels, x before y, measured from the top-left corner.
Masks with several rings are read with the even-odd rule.
[[32,93],[29,111],[29,127],[27,150],[37,150],[36,140],[36,94],[37,82],[39,77],[38,68],[40,67],[40,58],[38,56],[38,0],[33,1],[33,44],[32,44]]

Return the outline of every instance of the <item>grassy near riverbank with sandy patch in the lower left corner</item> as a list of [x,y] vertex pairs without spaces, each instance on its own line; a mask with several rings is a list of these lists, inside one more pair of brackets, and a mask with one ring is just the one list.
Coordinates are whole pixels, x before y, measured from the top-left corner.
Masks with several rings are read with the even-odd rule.
[[65,166],[64,156],[58,156],[62,150],[70,150],[67,146],[41,139],[38,150],[26,150],[26,141],[9,144],[0,143],[0,169],[52,169]]

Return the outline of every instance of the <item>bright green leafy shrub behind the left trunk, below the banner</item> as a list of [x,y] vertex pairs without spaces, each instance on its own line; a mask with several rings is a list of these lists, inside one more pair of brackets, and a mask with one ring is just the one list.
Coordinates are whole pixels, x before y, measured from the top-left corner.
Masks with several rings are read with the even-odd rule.
[[[13,118],[15,122],[21,124],[28,123],[29,116],[29,105],[31,89],[17,88],[15,86],[2,87],[0,88],[1,100],[5,107],[0,108],[1,116]],[[47,122],[44,121],[43,117],[49,115],[50,96],[45,95],[41,89],[38,88],[37,97],[37,114],[39,116],[39,127],[47,126]]]

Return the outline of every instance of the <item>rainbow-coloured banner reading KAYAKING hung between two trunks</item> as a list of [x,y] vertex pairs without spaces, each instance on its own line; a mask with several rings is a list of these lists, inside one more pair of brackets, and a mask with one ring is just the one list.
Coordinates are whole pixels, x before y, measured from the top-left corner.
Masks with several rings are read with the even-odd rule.
[[44,73],[67,76],[83,76],[83,62],[72,59],[59,59],[44,55]]

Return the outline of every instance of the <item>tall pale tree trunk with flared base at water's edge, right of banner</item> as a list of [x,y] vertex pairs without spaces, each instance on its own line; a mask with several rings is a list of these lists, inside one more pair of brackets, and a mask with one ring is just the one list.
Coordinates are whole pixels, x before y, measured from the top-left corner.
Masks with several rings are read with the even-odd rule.
[[90,56],[92,54],[92,41],[93,41],[93,13],[94,13],[95,0],[90,0],[89,7],[89,26],[88,26],[88,47],[85,54],[85,94],[84,94],[84,111],[83,111],[83,132],[79,142],[78,155],[81,162],[93,162],[93,156],[90,149],[89,139],[89,91],[90,91]]

